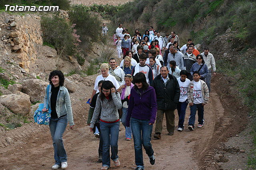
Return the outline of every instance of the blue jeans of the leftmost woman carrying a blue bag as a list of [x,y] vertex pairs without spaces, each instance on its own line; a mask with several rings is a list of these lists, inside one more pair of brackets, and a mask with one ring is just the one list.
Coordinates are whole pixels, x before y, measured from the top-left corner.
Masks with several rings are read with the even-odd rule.
[[61,162],[66,162],[68,157],[63,145],[62,135],[68,124],[67,115],[60,118],[50,119],[50,132],[52,135],[53,147],[54,147],[54,159],[55,164],[61,165]]

